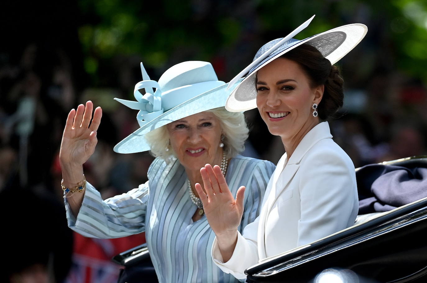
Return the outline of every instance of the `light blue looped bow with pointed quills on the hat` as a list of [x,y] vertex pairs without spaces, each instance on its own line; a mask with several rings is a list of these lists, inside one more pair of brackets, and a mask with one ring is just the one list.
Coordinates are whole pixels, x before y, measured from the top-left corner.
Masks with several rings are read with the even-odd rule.
[[[146,124],[148,121],[156,118],[163,114],[163,108],[161,105],[161,89],[157,81],[150,80],[144,65],[141,63],[141,73],[143,81],[135,84],[134,96],[137,101],[130,101],[120,98],[114,98],[121,104],[127,107],[139,110],[136,118],[140,127]],[[153,90],[156,89],[156,91]],[[139,90],[145,89],[145,94],[142,95]]]

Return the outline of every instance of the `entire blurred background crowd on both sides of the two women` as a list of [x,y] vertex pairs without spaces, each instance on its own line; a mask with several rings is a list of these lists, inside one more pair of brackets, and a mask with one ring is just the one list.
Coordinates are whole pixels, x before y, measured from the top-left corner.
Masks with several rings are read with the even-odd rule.
[[[199,11],[201,18],[206,16],[204,11]],[[250,4],[238,11],[242,18],[254,13]],[[239,43],[211,58],[220,79],[231,80],[238,69],[235,66],[249,63],[247,58],[254,52],[249,43],[257,47],[272,39],[266,33],[264,38],[256,37],[256,33],[247,22]],[[372,38],[368,36],[359,51],[343,60],[345,105],[330,120],[335,141],[355,167],[427,154],[427,87],[394,67],[390,42]],[[370,44],[377,46],[370,49]],[[92,87],[79,82],[83,70],[76,69],[70,52],[55,44],[28,43],[18,51],[15,56],[0,53],[0,209],[8,231],[5,270],[9,271],[0,274],[7,277],[0,277],[0,282],[116,282],[120,266],[111,258],[143,243],[144,235],[94,240],[74,234],[65,218],[58,152],[68,112],[92,100],[102,107],[103,116],[96,151],[85,164],[87,180],[104,198],[146,182],[153,160],[149,153],[126,155],[112,150],[138,127],[136,111],[113,98],[132,99],[134,85],[142,80],[142,59],[112,59],[115,72],[109,76],[116,76],[114,86]],[[169,66],[180,59],[197,60],[197,50],[180,52],[177,49],[171,55]],[[147,72],[157,80],[169,66],[147,67]],[[244,155],[277,163],[284,151],[281,140],[269,134],[257,110],[245,115],[251,133]],[[34,281],[24,281],[26,277]]]

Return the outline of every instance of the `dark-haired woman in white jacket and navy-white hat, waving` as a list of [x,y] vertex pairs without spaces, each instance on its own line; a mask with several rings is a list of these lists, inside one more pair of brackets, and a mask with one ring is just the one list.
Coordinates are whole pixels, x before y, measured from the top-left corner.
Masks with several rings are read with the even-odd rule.
[[244,270],[258,260],[354,224],[354,165],[333,141],[325,120],[343,104],[343,80],[331,63],[354,48],[366,30],[352,24],[305,40],[266,43],[249,66],[249,75],[231,93],[227,109],[256,105],[270,133],[281,137],[286,153],[269,181],[260,216],[243,234],[238,227],[245,187],[234,199],[228,185],[233,187],[218,166],[201,169],[205,191],[200,184],[196,189],[216,234],[212,257],[223,271],[245,278]]

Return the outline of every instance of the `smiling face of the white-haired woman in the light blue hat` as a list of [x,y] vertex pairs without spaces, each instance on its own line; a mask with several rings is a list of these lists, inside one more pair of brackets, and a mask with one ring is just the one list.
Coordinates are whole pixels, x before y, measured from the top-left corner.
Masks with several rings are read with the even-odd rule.
[[167,125],[170,144],[186,170],[199,172],[206,163],[220,165],[221,126],[211,112],[187,116]]

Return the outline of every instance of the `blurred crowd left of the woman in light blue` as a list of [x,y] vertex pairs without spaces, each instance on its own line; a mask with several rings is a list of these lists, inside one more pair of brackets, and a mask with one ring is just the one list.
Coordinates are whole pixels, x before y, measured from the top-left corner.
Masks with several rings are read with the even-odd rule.
[[71,108],[91,99],[104,109],[96,152],[84,165],[86,178],[104,198],[146,182],[153,160],[148,153],[112,151],[135,130],[134,113],[111,106],[111,95],[120,97],[120,88],[76,92],[70,65],[60,49],[37,44],[26,46],[18,61],[1,64],[0,209],[9,231],[5,270],[13,283],[116,282],[120,266],[111,258],[145,242],[143,234],[88,239],[67,227],[58,153]]

